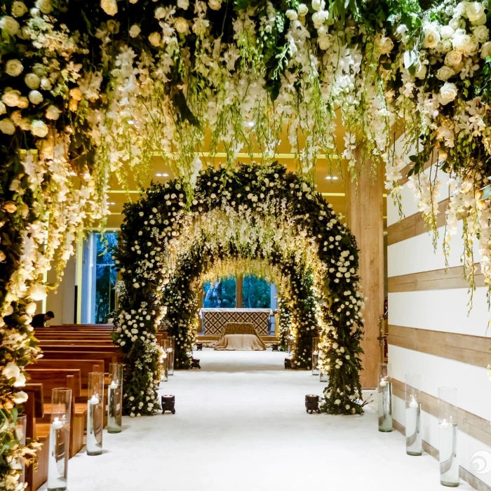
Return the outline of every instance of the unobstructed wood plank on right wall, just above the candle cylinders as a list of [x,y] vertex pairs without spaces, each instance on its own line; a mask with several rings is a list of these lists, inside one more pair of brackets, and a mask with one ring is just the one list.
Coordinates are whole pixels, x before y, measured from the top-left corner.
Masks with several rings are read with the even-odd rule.
[[403,328],[399,325],[389,325],[387,337],[387,342],[394,346],[450,358],[478,367],[491,364],[490,341],[489,337]]

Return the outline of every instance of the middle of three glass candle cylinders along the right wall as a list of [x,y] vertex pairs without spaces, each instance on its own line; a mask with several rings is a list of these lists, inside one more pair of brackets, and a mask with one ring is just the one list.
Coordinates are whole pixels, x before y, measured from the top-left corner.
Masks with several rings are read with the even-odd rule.
[[405,376],[405,451],[422,455],[421,437],[421,375]]

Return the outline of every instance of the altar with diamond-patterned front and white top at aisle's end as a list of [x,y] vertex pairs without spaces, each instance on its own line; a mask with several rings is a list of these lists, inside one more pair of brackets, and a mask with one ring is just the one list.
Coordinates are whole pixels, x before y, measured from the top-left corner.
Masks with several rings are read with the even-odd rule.
[[257,335],[267,336],[271,309],[201,309],[203,335],[220,336],[227,323],[250,323]]

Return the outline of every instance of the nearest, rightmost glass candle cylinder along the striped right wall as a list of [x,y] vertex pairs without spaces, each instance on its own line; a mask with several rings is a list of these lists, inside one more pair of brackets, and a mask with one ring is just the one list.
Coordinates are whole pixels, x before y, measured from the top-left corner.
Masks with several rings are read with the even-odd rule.
[[438,440],[440,453],[440,484],[459,485],[457,459],[457,389],[438,388]]

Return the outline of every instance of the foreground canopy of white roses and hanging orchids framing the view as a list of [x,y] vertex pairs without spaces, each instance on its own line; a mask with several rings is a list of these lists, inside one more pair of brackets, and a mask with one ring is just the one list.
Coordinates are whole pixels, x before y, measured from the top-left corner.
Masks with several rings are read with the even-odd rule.
[[203,150],[233,168],[259,149],[268,166],[288,128],[302,179],[339,154],[354,176],[385,168],[397,199],[403,135],[429,229],[448,173],[445,252],[462,220],[469,283],[478,241],[491,285],[490,26],[487,1],[2,1],[0,487],[22,489],[13,410],[44,274],[107,215],[109,178],[144,180],[156,153],[191,206]]

